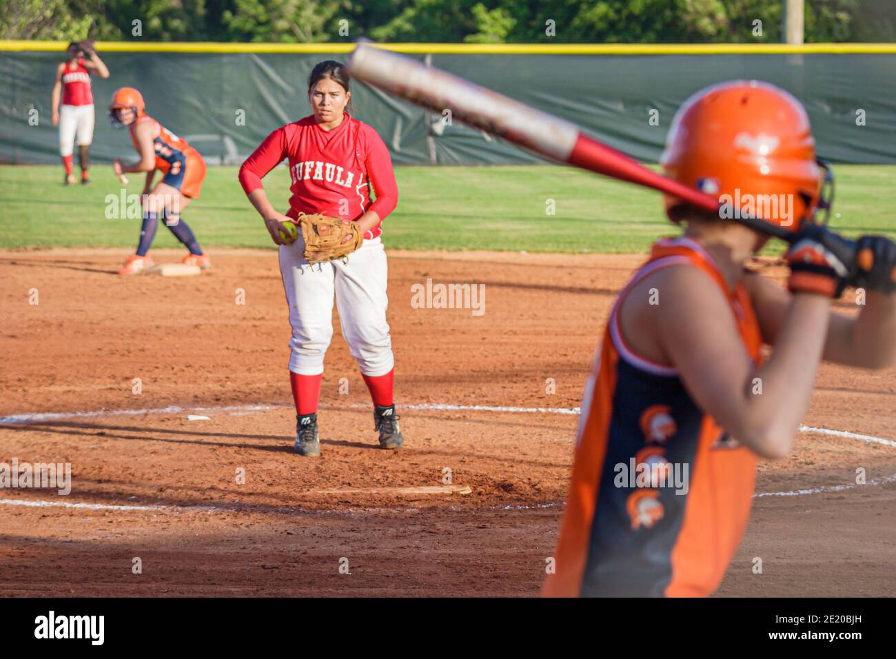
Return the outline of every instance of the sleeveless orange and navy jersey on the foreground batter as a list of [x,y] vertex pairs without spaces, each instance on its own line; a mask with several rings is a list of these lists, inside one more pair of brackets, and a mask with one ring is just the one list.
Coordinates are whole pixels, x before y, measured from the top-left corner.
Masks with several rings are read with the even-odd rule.
[[743,283],[728,290],[694,240],[659,240],[616,299],[585,388],[547,596],[709,595],[743,538],[756,455],[702,412],[674,367],[644,360],[619,331],[627,291],[674,264],[699,268],[718,283],[746,351],[756,364],[762,360],[762,334]]

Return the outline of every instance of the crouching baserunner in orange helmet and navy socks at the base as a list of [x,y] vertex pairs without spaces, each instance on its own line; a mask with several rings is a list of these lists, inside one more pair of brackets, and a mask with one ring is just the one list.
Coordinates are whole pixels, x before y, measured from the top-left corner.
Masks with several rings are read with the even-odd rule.
[[[182,263],[194,264],[203,270],[211,267],[209,257],[202,253],[202,247],[194,233],[181,218],[180,213],[193,199],[199,198],[202,181],[205,179],[205,161],[186,141],[161,126],[158,121],[145,113],[146,104],[141,93],[131,87],[123,87],[112,95],[109,118],[113,126],[127,127],[134,149],[140,155],[132,165],[122,165],[115,159],[112,164],[116,176],[145,171],[143,186],[143,223],[140,242],[134,255],[128,256],[125,266],[118,274],[141,273],[152,265],[149,256],[152,240],[159,228],[159,219],[180,240],[190,253]],[[163,174],[156,186],[152,186],[156,171]]]

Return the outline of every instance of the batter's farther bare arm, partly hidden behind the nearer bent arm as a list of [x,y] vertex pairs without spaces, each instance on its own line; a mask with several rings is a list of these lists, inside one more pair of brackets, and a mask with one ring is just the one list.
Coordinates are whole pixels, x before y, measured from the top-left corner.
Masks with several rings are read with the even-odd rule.
[[[759,274],[748,275],[745,284],[763,340],[777,345],[793,295]],[[896,294],[867,290],[857,316],[831,310],[823,359],[864,369],[896,365]]]

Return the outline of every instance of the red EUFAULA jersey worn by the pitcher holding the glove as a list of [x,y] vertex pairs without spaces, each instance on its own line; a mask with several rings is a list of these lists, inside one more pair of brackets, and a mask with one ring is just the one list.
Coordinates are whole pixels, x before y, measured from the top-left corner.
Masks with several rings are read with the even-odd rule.
[[[284,158],[289,160],[289,211],[320,212],[351,221],[367,211],[380,218],[364,238],[376,238],[380,225],[398,204],[392,158],[376,131],[349,117],[325,131],[314,117],[281,126],[267,136],[239,169],[239,182],[248,195],[262,186],[262,178]],[[375,202],[370,201],[370,185]]]

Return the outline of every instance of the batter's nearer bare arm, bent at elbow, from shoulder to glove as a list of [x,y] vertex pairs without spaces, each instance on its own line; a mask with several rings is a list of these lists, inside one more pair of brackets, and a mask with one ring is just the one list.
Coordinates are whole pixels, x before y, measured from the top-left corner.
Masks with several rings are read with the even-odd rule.
[[[659,304],[648,303],[649,290]],[[779,344],[756,369],[737,334],[718,285],[691,267],[671,266],[646,277],[626,297],[620,323],[650,328],[636,351],[674,366],[703,410],[746,447],[763,457],[787,455],[802,421],[823,349],[830,303],[820,295],[794,297]],[[626,322],[627,321],[627,322]],[[652,354],[645,350],[653,346]],[[754,394],[754,378],[762,395]]]

